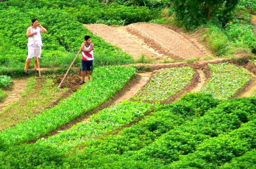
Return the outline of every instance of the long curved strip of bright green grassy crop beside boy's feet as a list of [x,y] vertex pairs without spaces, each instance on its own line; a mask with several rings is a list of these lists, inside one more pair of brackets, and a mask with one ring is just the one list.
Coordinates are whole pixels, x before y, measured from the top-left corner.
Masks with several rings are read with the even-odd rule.
[[135,74],[133,67],[104,66],[95,68],[92,75],[93,80],[87,82],[74,95],[31,119],[2,130],[0,137],[10,145],[37,139],[101,105],[121,90]]

